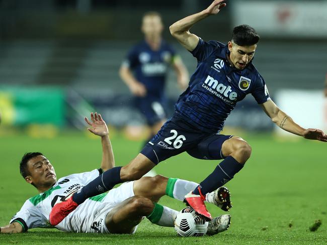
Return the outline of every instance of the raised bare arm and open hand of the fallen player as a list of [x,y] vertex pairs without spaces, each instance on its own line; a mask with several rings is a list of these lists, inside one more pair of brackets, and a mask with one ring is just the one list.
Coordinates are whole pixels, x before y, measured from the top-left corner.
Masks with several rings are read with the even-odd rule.
[[102,119],[102,116],[95,112],[91,112],[91,121],[85,117],[85,121],[91,127],[88,130],[95,135],[101,137],[101,145],[102,145],[102,162],[101,169],[103,171],[107,171],[115,167],[115,158],[114,153],[112,151],[112,146],[109,138],[109,130],[106,125],[106,122]]

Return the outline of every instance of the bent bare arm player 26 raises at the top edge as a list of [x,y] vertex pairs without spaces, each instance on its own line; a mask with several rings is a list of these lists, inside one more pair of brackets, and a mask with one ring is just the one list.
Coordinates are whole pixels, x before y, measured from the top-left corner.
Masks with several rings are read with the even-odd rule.
[[226,6],[226,4],[222,2],[225,2],[225,0],[215,0],[207,9],[175,22],[169,27],[172,36],[187,50],[193,51],[199,42],[199,37],[190,33],[191,27],[210,15],[217,15],[219,11]]

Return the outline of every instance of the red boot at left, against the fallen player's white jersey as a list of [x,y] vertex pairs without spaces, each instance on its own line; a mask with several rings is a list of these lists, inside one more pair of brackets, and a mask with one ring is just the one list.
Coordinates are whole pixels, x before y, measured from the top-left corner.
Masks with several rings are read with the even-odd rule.
[[69,213],[74,211],[77,206],[78,204],[72,200],[72,196],[63,202],[59,202],[54,205],[49,216],[50,224],[53,226],[59,224],[65,217],[68,216]]

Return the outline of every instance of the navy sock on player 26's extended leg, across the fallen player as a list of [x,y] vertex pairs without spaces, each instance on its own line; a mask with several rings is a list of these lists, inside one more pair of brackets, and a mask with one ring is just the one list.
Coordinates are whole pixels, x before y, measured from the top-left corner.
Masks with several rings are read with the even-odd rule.
[[79,205],[89,197],[109,191],[115,185],[122,183],[120,179],[120,169],[121,167],[114,167],[107,170],[102,175],[95,178],[89,184],[77,191],[72,196],[72,200]]

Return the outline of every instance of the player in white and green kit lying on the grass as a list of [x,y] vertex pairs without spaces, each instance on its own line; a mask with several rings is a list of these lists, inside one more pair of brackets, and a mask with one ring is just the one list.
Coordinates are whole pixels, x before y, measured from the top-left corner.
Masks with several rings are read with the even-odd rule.
[[[80,190],[99,175],[103,176],[103,171],[115,166],[107,126],[100,114],[95,114],[97,119],[94,119],[93,114],[91,117],[95,123],[89,130],[101,136],[102,141],[101,168],[68,175],[57,181],[53,166],[42,153],[25,154],[20,164],[21,174],[40,194],[28,199],[11,219],[10,224],[1,227],[1,233],[19,233],[30,228],[51,226],[48,217],[56,203]],[[134,233],[144,216],[152,223],[173,227],[178,211],[156,202],[165,194],[183,200],[185,194],[197,185],[194,182],[169,179],[160,175],[143,177],[86,200],[55,227],[70,232]],[[225,195],[228,201],[222,202],[220,195]],[[222,187],[207,195],[207,200],[225,209],[229,203],[229,191]],[[224,231],[229,224],[229,214],[216,217],[209,222],[207,234]]]

